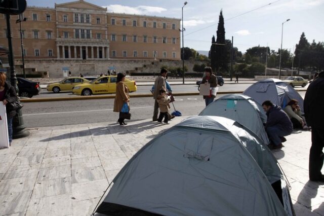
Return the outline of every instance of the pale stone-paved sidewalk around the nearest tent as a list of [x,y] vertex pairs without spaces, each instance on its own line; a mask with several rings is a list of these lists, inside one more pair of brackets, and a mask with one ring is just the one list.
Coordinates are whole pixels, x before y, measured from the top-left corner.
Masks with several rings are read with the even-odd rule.
[[[0,150],[0,215],[90,215],[118,170],[170,125],[150,120],[30,129]],[[324,185],[308,181],[309,131],[273,152],[292,190],[296,214],[324,215]]]

